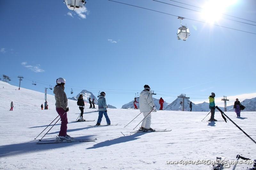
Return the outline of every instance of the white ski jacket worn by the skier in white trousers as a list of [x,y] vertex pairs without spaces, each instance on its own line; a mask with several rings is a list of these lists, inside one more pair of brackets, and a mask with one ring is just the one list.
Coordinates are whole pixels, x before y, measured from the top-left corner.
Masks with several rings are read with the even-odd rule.
[[[140,112],[150,112],[154,105],[153,98],[151,92],[148,92],[147,90],[143,90],[140,92]],[[156,112],[156,110],[153,110],[152,112]]]

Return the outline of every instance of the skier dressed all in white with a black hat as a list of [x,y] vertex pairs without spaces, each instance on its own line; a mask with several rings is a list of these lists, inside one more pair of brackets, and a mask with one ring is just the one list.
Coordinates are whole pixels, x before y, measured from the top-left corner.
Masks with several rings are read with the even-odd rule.
[[150,124],[151,124],[151,112],[156,112],[156,106],[154,105],[152,94],[150,92],[150,87],[148,85],[144,85],[144,90],[140,92],[139,100],[140,100],[140,112],[142,112],[144,115],[144,120],[142,121],[142,124],[139,130],[155,131],[154,129],[150,128]]

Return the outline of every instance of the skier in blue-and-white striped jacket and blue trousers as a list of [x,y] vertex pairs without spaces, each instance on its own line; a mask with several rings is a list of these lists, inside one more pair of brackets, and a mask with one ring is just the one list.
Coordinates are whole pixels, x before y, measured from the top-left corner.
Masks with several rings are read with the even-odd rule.
[[99,109],[99,117],[97,120],[96,125],[100,125],[100,122],[102,120],[103,114],[106,118],[107,121],[107,125],[110,125],[110,120],[108,118],[108,114],[107,114],[107,104],[106,104],[106,99],[105,99],[106,93],[105,92],[101,92],[99,99],[98,99],[98,109]]

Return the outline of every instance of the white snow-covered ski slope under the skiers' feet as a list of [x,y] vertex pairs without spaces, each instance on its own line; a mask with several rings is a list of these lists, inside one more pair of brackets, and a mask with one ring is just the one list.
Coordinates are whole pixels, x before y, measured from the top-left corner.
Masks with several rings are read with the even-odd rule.
[[[0,82],[1,86],[5,86],[6,90],[0,91],[0,169],[207,170],[212,165],[167,165],[166,161],[215,160],[220,156],[235,160],[237,154],[256,159],[256,144],[232,122],[201,122],[208,112],[157,111],[152,114],[151,127],[172,131],[130,134],[143,119],[143,115],[127,127],[124,126],[140,113],[139,110],[108,109],[111,123],[118,125],[90,127],[88,125],[96,124],[98,112],[84,114],[85,119],[95,122],[72,122],[76,121],[79,113],[76,101],[72,100],[68,100],[68,134],[78,139],[98,140],[39,145],[33,139],[57,116],[54,96],[47,95],[50,109],[40,110],[40,105],[44,104],[43,93],[23,88],[20,91],[14,90],[17,87],[4,82]],[[11,101],[14,102],[13,111],[9,111]],[[241,112],[245,119],[236,118],[235,112],[226,114],[256,140],[253,128],[256,112]],[[217,110],[215,118],[222,120]],[[101,124],[107,124],[104,116]],[[53,139],[59,130],[60,122],[44,139]],[[247,167],[252,165],[238,164],[236,169]]]

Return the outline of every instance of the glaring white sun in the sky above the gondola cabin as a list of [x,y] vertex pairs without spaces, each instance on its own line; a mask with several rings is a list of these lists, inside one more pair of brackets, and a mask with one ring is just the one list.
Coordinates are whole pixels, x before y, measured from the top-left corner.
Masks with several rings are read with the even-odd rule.
[[225,9],[235,4],[237,0],[209,0],[203,6],[202,17],[206,22],[213,24],[218,21]]

